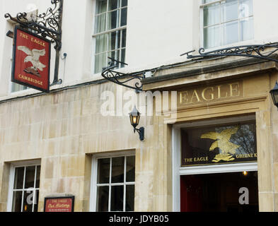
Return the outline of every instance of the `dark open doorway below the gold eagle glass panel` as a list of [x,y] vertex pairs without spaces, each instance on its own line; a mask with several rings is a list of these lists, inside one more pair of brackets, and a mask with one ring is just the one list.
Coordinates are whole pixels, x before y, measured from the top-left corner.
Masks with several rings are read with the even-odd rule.
[[257,212],[257,172],[180,176],[181,212]]

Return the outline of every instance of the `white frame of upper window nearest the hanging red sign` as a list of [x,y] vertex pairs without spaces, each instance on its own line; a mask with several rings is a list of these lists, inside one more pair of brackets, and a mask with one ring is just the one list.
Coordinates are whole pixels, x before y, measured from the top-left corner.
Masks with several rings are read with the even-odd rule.
[[[108,1],[108,0],[106,0],[106,1]],[[109,34],[109,33],[112,33],[112,32],[117,32],[117,31],[119,31],[119,32],[121,32],[122,33],[122,31],[125,29],[126,30],[126,32],[127,32],[127,25],[123,25],[123,26],[121,26],[121,13],[122,13],[122,8],[127,8],[127,10],[128,10],[128,1],[127,1],[127,6],[123,6],[122,7],[122,0],[120,1],[120,7],[119,8],[117,8],[117,9],[113,9],[113,10],[108,10],[108,4],[107,4],[107,6],[106,6],[106,11],[105,11],[105,13],[106,13],[106,18],[105,18],[105,21],[106,21],[106,23],[105,23],[105,31],[103,31],[103,32],[95,32],[95,28],[96,28],[96,26],[97,26],[97,23],[96,23],[96,17],[98,16],[98,15],[100,15],[100,14],[103,14],[103,13],[96,13],[96,11],[97,11],[97,1],[95,1],[95,7],[94,7],[94,12],[95,12],[95,16],[94,16],[94,25],[93,25],[93,35],[92,35],[92,37],[93,37],[93,62],[92,62],[92,72],[93,72],[93,74],[98,74],[98,73],[101,73],[101,71],[100,72],[98,72],[98,73],[95,73],[95,48],[96,48],[96,37],[98,37],[99,35],[106,35],[106,34]],[[107,30],[107,28],[108,28],[108,13],[110,13],[110,12],[112,12],[112,11],[117,11],[117,10],[119,10],[119,15],[117,16],[117,19],[118,19],[118,23],[119,23],[119,28],[114,28],[114,29],[110,29],[110,30]],[[108,50],[108,49],[106,49],[106,51],[105,52],[100,52],[100,53],[98,53],[98,55],[99,54],[103,54],[103,53],[107,53],[107,54],[109,54],[110,52],[117,52],[117,51],[119,51],[120,52],[120,56],[118,57],[118,59],[119,59],[119,61],[121,61],[121,59],[122,59],[122,49],[125,49],[125,56],[124,57],[126,57],[127,56],[127,51],[126,51],[126,49],[127,49],[127,39],[126,39],[126,45],[125,45],[125,47],[122,47],[122,34],[120,35],[120,47],[119,48],[117,48],[117,49],[113,49],[113,50]],[[117,38],[117,37],[116,37]],[[127,38],[127,36],[126,36],[126,38]],[[109,44],[108,44],[108,42],[109,42],[109,39],[107,39],[106,40],[106,45],[107,45],[107,47],[109,46]],[[109,59],[106,59],[106,65],[105,66],[108,66],[108,62],[109,62],[110,60]],[[124,65],[122,65],[122,66],[124,66]]]

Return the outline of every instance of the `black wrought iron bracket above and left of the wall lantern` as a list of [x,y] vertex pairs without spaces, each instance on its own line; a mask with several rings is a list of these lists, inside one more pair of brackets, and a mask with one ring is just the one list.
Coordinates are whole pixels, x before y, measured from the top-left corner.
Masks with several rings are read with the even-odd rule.
[[[113,69],[116,69],[119,64],[124,64],[121,61],[117,61],[115,59],[112,59],[110,57],[108,57],[111,61],[108,62],[108,67],[103,68],[103,71],[101,73],[101,76],[103,76],[103,78],[107,79],[108,81],[111,81],[113,83],[116,83],[118,85],[123,85],[127,88],[132,88],[134,90],[137,91],[142,91],[142,84],[141,84],[141,80],[144,78],[144,75],[137,75],[137,74],[132,74],[132,73],[121,73],[118,71],[113,71]],[[127,64],[125,64],[127,65]],[[132,85],[127,85],[127,82],[132,81],[132,80],[138,80],[137,83],[134,84],[134,86]]]

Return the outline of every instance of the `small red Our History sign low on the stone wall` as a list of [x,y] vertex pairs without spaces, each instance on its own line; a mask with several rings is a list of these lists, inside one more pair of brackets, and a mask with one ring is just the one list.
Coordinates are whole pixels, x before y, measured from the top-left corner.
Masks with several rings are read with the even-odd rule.
[[74,212],[74,196],[45,198],[45,212]]

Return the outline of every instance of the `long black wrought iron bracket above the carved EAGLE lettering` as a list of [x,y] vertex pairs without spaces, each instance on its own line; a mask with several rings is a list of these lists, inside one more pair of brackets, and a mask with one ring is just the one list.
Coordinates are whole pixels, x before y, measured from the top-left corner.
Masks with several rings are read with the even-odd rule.
[[[265,49],[270,49],[269,52],[265,52]],[[272,54],[278,51],[278,42],[269,44],[253,44],[243,45],[238,47],[228,47],[224,49],[216,49],[214,51],[205,52],[204,48],[199,49],[199,55],[192,55],[195,50],[181,54],[180,56],[187,55],[187,59],[200,58],[200,57],[255,57],[260,59],[267,59],[270,61],[278,62],[278,59],[274,58]],[[265,53],[263,53],[265,52]]]

